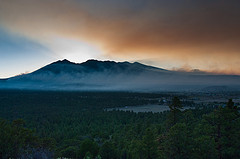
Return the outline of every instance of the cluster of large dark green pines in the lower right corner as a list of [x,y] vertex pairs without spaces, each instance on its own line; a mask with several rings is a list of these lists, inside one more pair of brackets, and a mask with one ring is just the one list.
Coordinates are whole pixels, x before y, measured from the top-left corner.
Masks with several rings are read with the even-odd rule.
[[194,124],[189,121],[189,117],[194,121],[191,111],[181,115],[160,143],[164,148],[162,156],[171,159],[240,158],[240,115],[231,99],[225,107],[203,115]]

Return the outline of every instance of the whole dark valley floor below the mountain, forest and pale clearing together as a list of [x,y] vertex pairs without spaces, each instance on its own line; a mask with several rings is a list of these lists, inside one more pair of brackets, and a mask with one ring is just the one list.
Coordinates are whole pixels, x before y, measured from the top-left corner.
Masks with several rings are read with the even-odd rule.
[[[169,109],[175,97],[180,99],[183,109],[177,107],[173,109],[174,111]],[[239,111],[239,97],[240,92],[222,94],[220,92],[1,90],[0,127],[2,130],[9,129],[14,132],[19,130],[19,128],[15,129],[14,124],[23,123],[23,127],[21,124],[19,125],[24,130],[23,132],[27,133],[28,129],[34,131],[30,131],[32,133],[27,135],[33,135],[31,140],[20,140],[25,137],[19,134],[19,139],[16,136],[14,141],[10,141],[11,132],[0,131],[0,141],[8,138],[10,141],[0,143],[0,152],[8,154],[6,145],[12,147],[15,141],[19,140],[19,142],[24,141],[23,145],[27,144],[33,147],[33,149],[24,150],[40,156],[47,155],[48,158],[82,159],[92,156],[92,158],[135,159],[141,158],[142,155],[158,158],[175,153],[167,149],[173,146],[178,146],[179,149],[189,149],[185,155],[200,155],[204,152],[206,156],[212,155],[212,158],[216,158],[217,150],[214,147],[209,148],[208,151],[201,148],[199,151],[190,151],[190,149],[198,147],[199,144],[203,146],[206,142],[218,144],[212,140],[215,138],[212,136],[213,134],[199,128],[199,126],[208,126],[208,130],[214,130],[215,126],[211,126],[211,121],[215,120],[215,113],[223,113],[221,118],[228,121],[228,124],[232,124],[232,137],[239,137],[240,122],[238,122],[239,118],[235,116],[239,112],[236,112],[235,108],[230,110],[229,104],[227,104],[228,99],[232,98]],[[177,115],[176,121],[173,120],[173,112]],[[232,120],[228,119],[230,116],[225,116],[224,112],[232,113],[232,117],[236,118],[237,122],[232,123]],[[206,119],[209,120],[209,123],[206,123]],[[8,124],[10,126],[6,128]],[[221,124],[226,126],[224,123]],[[177,136],[172,134],[175,132],[177,132]],[[191,136],[181,138],[182,142],[191,142],[186,145],[176,145],[174,138],[178,138],[181,133],[184,136],[191,134]],[[202,133],[205,133],[204,138],[199,141]],[[227,137],[228,134],[225,135]],[[163,136],[165,139],[162,139]],[[224,140],[224,138],[222,139]],[[171,143],[172,140],[173,143]],[[231,141],[229,140],[229,142]],[[159,149],[161,146],[166,149]],[[16,152],[22,148],[21,146],[16,147]],[[151,154],[148,154],[148,148],[151,148]],[[236,151],[233,155],[237,156],[238,149],[232,148]],[[25,154],[25,151],[22,154]],[[224,155],[227,156],[230,153],[224,152]]]

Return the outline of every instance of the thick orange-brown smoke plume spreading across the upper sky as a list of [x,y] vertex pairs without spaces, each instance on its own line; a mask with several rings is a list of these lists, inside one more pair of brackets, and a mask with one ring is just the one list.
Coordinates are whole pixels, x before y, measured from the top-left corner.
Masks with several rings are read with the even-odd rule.
[[240,73],[239,1],[0,0],[0,4],[1,26],[49,48],[56,38],[70,38],[98,46],[107,57]]

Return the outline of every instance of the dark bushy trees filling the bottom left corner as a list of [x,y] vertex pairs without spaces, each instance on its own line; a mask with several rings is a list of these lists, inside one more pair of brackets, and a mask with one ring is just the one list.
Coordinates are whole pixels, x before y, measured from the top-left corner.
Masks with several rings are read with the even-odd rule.
[[41,158],[53,157],[54,142],[38,138],[34,132],[24,127],[21,119],[9,123],[0,120],[0,158]]

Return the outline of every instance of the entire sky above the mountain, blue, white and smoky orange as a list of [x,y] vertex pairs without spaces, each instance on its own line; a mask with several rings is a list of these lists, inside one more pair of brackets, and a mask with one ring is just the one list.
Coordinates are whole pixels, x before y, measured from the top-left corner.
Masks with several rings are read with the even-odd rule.
[[0,78],[59,59],[240,75],[239,0],[0,0]]

